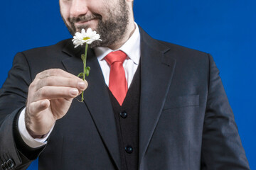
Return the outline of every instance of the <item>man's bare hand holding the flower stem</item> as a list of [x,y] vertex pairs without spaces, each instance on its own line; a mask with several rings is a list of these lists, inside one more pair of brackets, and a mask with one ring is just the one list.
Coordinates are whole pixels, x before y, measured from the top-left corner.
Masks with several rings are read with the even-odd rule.
[[87,81],[63,71],[48,69],[36,75],[28,88],[25,122],[32,137],[46,135],[70,108],[73,98],[87,88]]

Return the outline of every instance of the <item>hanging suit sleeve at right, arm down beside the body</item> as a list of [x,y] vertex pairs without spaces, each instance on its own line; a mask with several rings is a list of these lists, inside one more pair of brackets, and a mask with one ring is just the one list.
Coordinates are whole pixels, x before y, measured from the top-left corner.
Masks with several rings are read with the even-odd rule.
[[209,80],[203,128],[202,169],[250,169],[218,68],[209,55]]

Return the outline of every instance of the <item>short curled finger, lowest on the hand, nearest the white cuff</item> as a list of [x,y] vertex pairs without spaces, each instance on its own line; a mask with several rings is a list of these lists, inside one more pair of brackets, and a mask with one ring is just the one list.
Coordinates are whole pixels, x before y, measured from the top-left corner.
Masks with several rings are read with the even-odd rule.
[[39,113],[41,111],[46,110],[50,106],[50,101],[48,99],[36,101],[30,103],[28,107],[28,113]]

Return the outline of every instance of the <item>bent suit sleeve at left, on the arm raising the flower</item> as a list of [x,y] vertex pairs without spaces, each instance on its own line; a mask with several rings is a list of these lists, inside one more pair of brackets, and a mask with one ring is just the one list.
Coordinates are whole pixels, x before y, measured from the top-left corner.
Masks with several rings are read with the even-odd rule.
[[0,90],[0,169],[26,169],[44,148],[28,147],[18,133],[18,115],[26,106],[29,84],[28,62],[18,53]]

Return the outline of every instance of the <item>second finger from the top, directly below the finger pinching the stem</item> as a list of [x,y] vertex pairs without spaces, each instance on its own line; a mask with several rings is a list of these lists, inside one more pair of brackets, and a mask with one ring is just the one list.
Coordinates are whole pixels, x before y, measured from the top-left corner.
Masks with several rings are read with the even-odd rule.
[[64,86],[44,86],[33,96],[33,101],[40,101],[43,99],[55,99],[55,98],[75,98],[80,91],[76,88],[64,87]]

